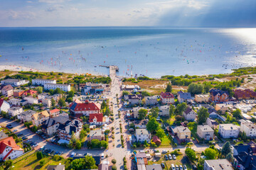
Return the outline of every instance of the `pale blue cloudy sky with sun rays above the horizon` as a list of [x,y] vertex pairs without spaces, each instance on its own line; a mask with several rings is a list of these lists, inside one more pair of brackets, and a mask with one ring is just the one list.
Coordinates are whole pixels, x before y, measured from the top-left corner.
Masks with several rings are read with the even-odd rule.
[[256,0],[0,0],[0,27],[256,27]]

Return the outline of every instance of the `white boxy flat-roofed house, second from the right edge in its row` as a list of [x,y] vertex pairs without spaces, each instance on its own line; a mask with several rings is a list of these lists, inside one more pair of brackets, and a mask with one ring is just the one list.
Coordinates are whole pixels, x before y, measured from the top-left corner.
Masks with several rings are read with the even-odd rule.
[[220,124],[218,133],[223,138],[237,138],[239,135],[239,126],[233,124]]

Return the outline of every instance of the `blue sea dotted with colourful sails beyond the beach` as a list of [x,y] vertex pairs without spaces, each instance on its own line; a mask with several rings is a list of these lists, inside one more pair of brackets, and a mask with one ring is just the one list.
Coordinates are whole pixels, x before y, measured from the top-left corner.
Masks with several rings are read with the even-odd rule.
[[230,73],[256,64],[256,28],[0,28],[0,64],[122,77]]

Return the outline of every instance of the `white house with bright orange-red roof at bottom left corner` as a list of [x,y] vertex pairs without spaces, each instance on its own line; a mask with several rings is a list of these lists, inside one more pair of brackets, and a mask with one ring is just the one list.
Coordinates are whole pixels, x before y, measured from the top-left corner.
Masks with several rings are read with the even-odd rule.
[[9,159],[16,159],[24,153],[13,137],[6,137],[0,140],[0,160],[7,161]]

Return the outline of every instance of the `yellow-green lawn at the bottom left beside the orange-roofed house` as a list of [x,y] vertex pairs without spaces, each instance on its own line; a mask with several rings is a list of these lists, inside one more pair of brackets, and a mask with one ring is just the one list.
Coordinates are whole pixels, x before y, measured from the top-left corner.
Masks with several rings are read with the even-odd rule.
[[[44,160],[46,164],[44,166],[40,166],[41,160]],[[31,154],[31,156],[22,159],[21,161],[14,164],[14,169],[26,169],[26,170],[34,170],[34,169],[47,169],[48,165],[57,165],[59,163],[64,164],[65,159],[60,160],[59,162],[55,162],[53,157],[46,156],[43,159],[36,159],[36,153]]]

